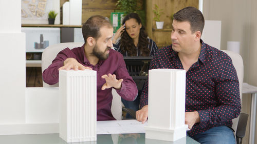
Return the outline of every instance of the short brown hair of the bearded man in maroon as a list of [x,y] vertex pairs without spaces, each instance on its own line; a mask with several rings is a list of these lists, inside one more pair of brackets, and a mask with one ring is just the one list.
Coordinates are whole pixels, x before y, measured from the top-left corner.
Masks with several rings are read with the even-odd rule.
[[82,34],[85,40],[88,37],[94,37],[98,39],[101,36],[100,28],[107,26],[113,28],[112,24],[109,21],[109,18],[101,15],[93,15],[86,20],[86,23],[82,26]]

